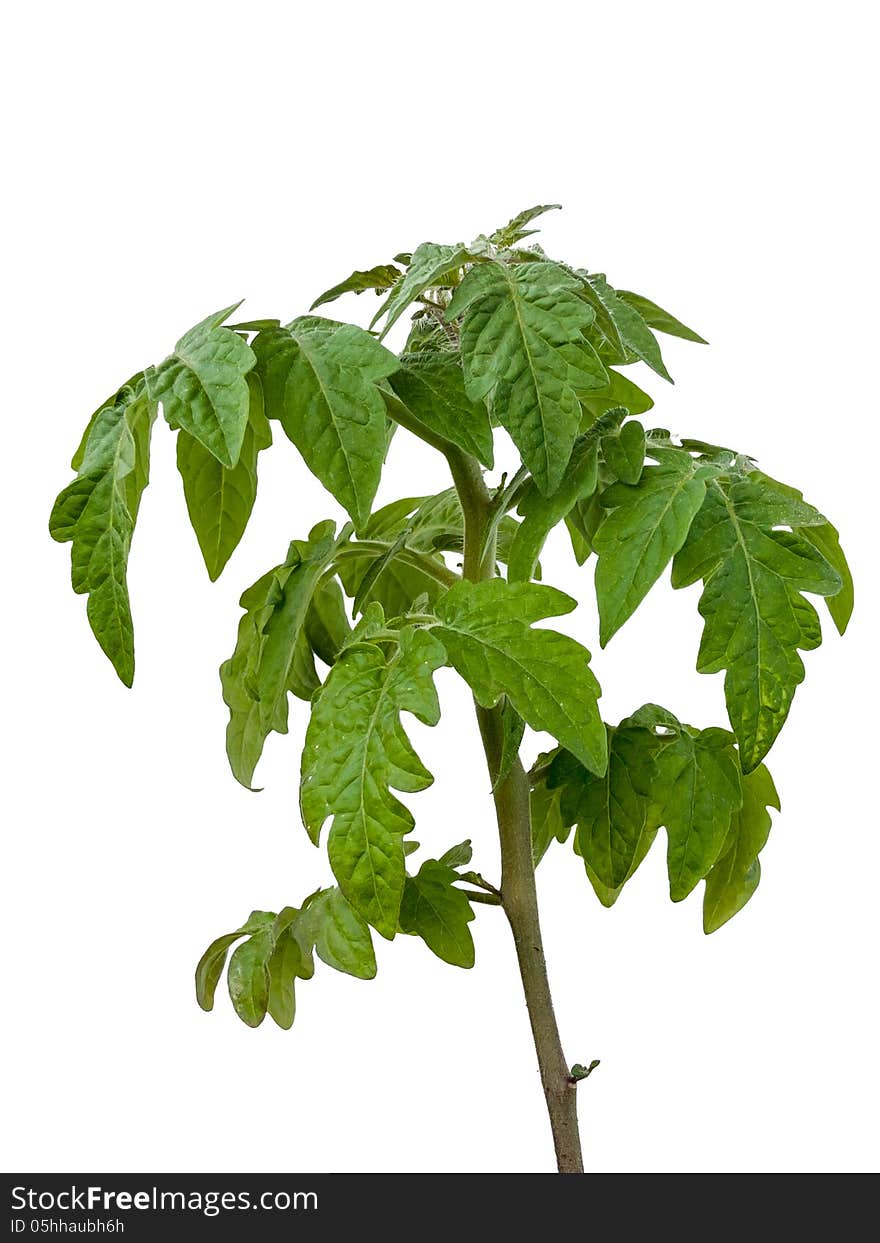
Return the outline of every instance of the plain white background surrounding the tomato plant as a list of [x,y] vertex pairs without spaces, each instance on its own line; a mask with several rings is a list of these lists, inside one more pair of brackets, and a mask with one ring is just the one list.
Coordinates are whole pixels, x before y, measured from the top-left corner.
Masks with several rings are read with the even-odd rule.
[[[2,70],[5,1168],[536,1171],[552,1167],[512,947],[482,909],[477,967],[411,938],[379,976],[329,970],[292,1032],[251,1032],[193,966],[251,907],[328,879],[298,824],[305,721],[241,789],[216,667],[244,587],[339,516],[278,434],[251,527],[211,587],[173,441],[131,564],[138,675],[114,677],[46,520],[96,404],[246,296],[307,308],[353,267],[561,201],[551,254],[697,327],[669,341],[651,418],[754,454],[840,527],[858,579],[769,763],[783,814],[763,881],[712,937],[666,896],[659,842],[613,911],[556,848],[539,889],[597,1171],[876,1167],[878,203],[871,6],[152,2],[19,6]],[[372,295],[339,303],[353,318]],[[503,454],[502,454],[503,457]],[[502,462],[503,465],[503,462]],[[445,486],[398,435],[382,498]],[[645,700],[723,723],[699,676],[697,589],[659,584],[599,653],[592,569],[559,537],[609,720]],[[823,613],[824,615],[824,613]],[[431,854],[497,874],[467,696],[413,736]],[[531,738],[537,750],[541,740]]]

